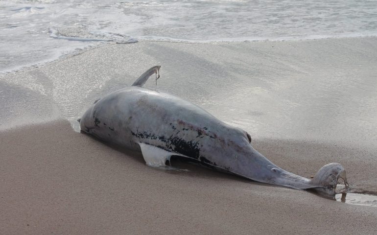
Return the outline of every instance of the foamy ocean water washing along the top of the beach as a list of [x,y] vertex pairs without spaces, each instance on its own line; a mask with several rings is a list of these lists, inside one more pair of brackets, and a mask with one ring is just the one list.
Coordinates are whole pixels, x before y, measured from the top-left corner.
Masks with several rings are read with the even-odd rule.
[[1,0],[0,72],[108,43],[377,35],[376,0]]

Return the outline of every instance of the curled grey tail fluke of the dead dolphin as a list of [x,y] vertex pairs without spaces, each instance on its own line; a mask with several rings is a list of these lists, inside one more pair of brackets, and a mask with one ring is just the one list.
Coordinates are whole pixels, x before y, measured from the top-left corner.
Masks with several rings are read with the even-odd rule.
[[338,163],[330,163],[322,166],[309,184],[315,191],[333,197],[339,178],[343,179],[345,187],[348,188],[344,167]]

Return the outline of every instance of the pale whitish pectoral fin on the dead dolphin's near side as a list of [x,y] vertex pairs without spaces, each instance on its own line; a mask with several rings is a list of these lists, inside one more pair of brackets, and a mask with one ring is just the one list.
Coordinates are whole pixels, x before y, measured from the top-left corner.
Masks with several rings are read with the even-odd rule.
[[154,145],[139,143],[142,157],[148,166],[166,166],[166,161],[170,161],[172,155],[179,155],[174,152],[166,151],[165,149],[156,147]]

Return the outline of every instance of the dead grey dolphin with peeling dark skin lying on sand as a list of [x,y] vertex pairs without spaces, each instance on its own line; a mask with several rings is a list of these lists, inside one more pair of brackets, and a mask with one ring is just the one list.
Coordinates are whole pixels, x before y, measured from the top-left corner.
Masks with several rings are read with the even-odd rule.
[[233,174],[279,186],[312,188],[334,197],[338,179],[347,187],[341,164],[323,166],[307,179],[270,162],[255,150],[245,131],[213,117],[204,109],[171,94],[142,88],[155,66],[131,87],[97,100],[80,120],[82,131],[96,138],[140,151],[147,165],[165,166],[181,156]]

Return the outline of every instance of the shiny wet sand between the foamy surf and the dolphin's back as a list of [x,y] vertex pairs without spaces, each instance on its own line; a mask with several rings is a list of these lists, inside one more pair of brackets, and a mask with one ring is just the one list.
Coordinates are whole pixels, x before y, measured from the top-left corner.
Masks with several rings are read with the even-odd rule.
[[[157,87],[153,78],[145,87],[199,105],[252,138],[374,146],[376,49],[365,46],[376,40],[335,41],[101,47],[40,71],[0,77],[4,87],[12,87],[2,91],[0,99],[4,104],[9,97],[21,102],[24,98],[14,91],[24,94],[23,89],[29,89],[51,107],[56,105],[78,130],[75,120],[94,100],[162,65]],[[9,105],[18,109],[17,103]],[[2,115],[9,119],[6,112]]]

